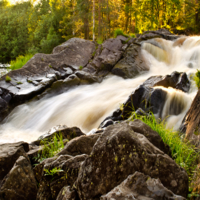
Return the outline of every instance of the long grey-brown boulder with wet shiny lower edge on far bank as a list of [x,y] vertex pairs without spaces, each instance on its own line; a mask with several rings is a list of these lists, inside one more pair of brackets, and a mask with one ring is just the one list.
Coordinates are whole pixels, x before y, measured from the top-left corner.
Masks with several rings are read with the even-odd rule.
[[[53,54],[36,54],[21,69],[0,78],[0,121],[15,106],[41,94],[58,79],[68,77],[92,58],[95,44],[80,38],[69,39],[56,47]],[[6,76],[11,81],[6,81]],[[9,98],[5,98],[9,95]],[[9,100],[9,102],[8,102]]]

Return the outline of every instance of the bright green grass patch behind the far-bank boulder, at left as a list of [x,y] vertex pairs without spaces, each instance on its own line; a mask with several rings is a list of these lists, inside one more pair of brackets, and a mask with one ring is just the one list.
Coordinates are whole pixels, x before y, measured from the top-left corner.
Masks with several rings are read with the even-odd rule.
[[25,56],[18,56],[16,60],[11,60],[10,62],[11,70],[22,68],[32,57],[33,57],[32,54],[27,54]]

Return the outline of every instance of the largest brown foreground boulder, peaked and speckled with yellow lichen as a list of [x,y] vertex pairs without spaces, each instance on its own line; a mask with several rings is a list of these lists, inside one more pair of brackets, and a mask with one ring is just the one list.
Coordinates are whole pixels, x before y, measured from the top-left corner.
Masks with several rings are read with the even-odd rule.
[[77,179],[80,199],[99,198],[136,171],[159,178],[172,192],[188,193],[188,176],[168,155],[126,123],[107,127],[83,162]]

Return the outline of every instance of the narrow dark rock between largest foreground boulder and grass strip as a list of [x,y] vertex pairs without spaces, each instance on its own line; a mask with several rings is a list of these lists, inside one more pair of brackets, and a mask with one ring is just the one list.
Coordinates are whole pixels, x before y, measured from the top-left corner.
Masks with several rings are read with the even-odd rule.
[[129,125],[133,131],[144,135],[154,146],[171,156],[171,150],[169,146],[163,142],[162,138],[156,131],[153,131],[144,122],[139,119],[135,119],[134,121],[129,122]]

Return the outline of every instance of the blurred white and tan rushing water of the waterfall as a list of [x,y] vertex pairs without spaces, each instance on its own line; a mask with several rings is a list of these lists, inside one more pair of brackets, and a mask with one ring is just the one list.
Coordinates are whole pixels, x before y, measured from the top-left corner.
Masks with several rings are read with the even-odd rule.
[[[153,75],[167,75],[173,71],[186,72],[188,76],[200,66],[200,37],[188,37],[184,42],[156,39],[163,50],[143,44],[142,53],[150,71],[134,79],[107,77],[101,84],[84,85],[58,96],[16,107],[0,127],[0,142],[31,142],[55,125],[78,126],[84,132],[97,128],[101,121],[120,106],[134,89]],[[182,44],[183,43],[183,44]],[[160,50],[160,51],[159,51]],[[166,89],[168,98],[163,118],[174,107],[170,99],[182,104],[179,114],[168,117],[168,127],[178,128],[192,99],[196,95],[193,84],[189,94]],[[175,104],[177,105],[177,104]]]

